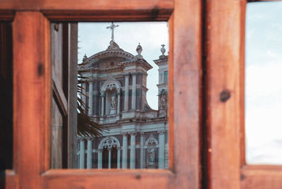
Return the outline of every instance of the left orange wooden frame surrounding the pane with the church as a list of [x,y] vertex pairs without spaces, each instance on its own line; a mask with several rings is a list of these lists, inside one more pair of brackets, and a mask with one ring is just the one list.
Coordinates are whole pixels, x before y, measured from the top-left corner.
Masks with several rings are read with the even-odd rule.
[[[201,7],[196,0],[1,0],[14,44],[15,153],[6,188],[200,188]],[[169,170],[49,170],[50,20],[168,20]]]

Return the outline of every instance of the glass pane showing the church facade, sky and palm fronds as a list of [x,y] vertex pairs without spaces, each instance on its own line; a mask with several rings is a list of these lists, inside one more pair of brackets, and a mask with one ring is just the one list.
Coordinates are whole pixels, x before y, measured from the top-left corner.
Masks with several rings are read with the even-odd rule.
[[[58,24],[60,27],[64,26]],[[63,41],[64,35],[55,34],[51,44],[54,49],[59,44],[57,39]],[[78,109],[77,124],[72,127],[77,130],[73,132],[75,148],[66,147],[71,144],[64,142],[71,137],[64,131],[70,130],[67,121],[64,123],[69,116],[63,115],[56,94],[53,104],[58,107],[54,109],[57,116],[52,116],[56,117],[52,126],[55,151],[51,157],[58,158],[61,164],[52,168],[167,169],[167,23],[78,23],[76,45]],[[66,44],[61,46],[63,49]],[[60,55],[59,51],[55,54],[61,56],[58,62],[63,62],[67,52],[63,49]],[[63,70],[63,65],[59,63],[53,71]],[[62,74],[59,83],[65,96],[70,97],[63,87],[67,85],[63,79],[66,72],[57,72]],[[55,129],[56,125],[59,128]],[[72,160],[71,150],[75,153]]]

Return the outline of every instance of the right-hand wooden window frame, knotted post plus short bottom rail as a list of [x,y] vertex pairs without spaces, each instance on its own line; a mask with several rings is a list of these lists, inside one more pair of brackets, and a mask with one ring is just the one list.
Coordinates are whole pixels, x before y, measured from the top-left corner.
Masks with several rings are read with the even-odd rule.
[[[261,1],[261,0],[252,0]],[[249,2],[252,2],[249,1]],[[207,1],[204,31],[206,188],[281,188],[282,166],[245,161],[245,12],[248,1]],[[220,49],[220,50],[219,50]]]

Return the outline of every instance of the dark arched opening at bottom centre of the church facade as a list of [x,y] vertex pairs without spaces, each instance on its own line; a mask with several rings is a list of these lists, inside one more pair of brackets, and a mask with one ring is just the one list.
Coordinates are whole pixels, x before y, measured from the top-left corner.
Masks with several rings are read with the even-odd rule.
[[121,144],[114,136],[104,138],[98,147],[98,168],[121,168]]

